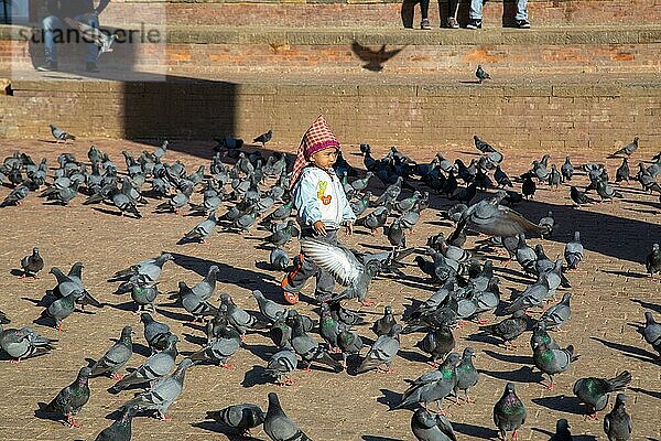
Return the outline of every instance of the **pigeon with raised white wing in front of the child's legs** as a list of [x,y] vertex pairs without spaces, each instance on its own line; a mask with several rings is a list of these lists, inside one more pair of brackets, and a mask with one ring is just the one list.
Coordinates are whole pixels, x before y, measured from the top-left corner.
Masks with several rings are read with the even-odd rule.
[[350,250],[314,238],[301,240],[301,251],[319,268],[328,271],[337,282],[347,287],[344,292],[333,295],[330,301],[357,299],[364,305],[373,304],[373,301],[367,299],[367,292],[371,279],[380,268],[379,261],[362,265]]

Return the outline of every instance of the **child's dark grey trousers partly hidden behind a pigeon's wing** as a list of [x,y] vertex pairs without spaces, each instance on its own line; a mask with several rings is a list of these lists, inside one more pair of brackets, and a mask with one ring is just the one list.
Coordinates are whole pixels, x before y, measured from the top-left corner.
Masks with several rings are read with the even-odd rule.
[[[314,234],[312,228],[304,228],[301,232],[301,238],[314,237],[315,239],[325,241],[326,244],[337,246],[337,230],[326,230],[325,236],[317,236]],[[301,262],[294,268],[294,270],[288,277],[286,287],[283,287],[285,291],[299,292],[305,286],[305,282],[311,277],[316,279],[316,288],[314,295],[317,299],[324,299],[333,293],[335,288],[335,279],[326,270],[321,269],[311,258],[306,258],[303,252],[300,255]]]

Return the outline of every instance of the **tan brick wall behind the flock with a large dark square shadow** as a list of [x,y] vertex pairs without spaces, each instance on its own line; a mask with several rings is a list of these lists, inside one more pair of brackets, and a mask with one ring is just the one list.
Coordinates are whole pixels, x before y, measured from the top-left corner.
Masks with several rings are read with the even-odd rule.
[[635,135],[661,144],[661,85],[274,86],[17,82],[0,95],[0,136],[243,139],[273,128],[296,146],[323,112],[345,143],[442,146],[479,132],[499,146],[611,148]]

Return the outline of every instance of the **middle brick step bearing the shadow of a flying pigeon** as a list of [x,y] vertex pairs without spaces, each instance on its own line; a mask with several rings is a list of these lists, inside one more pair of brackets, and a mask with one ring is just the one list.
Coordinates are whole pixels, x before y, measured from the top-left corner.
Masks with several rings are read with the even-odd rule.
[[[494,74],[661,73],[661,25],[412,31],[398,29],[292,29],[169,26],[159,41],[117,43],[100,64],[116,73],[210,76],[232,73],[375,75],[460,72],[477,64]],[[28,28],[0,26],[0,62],[25,69],[42,62],[41,43]],[[41,34],[34,34],[39,41]],[[83,44],[59,45],[61,67],[75,69]],[[383,52],[381,52],[383,50]],[[78,51],[78,52],[76,52]]]

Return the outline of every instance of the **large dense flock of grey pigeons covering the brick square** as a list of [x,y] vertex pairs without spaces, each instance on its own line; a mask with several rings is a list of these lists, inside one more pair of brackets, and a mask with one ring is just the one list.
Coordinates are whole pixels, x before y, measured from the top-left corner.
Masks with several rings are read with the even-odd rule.
[[[476,74],[480,82],[488,79],[488,74],[480,71],[478,67]],[[51,130],[58,148],[64,142],[65,149],[75,150],[75,143],[80,142],[53,125]],[[140,432],[140,424],[133,424],[137,418],[172,418],[169,409],[188,389],[188,372],[204,370],[207,381],[221,383],[225,369],[249,370],[234,364],[232,357],[248,351],[247,342],[251,341],[263,346],[263,364],[253,366],[253,372],[261,384],[273,387],[261,404],[227,402],[219,392],[217,401],[208,404],[206,416],[201,416],[239,437],[236,439],[249,439],[252,430],[273,441],[310,440],[306,433],[315,424],[315,406],[350,405],[328,402],[322,397],[315,404],[315,396],[310,415],[294,419],[288,416],[288,402],[281,401],[279,391],[305,388],[305,375],[325,376],[336,388],[342,388],[342,378],[347,375],[379,384],[383,378],[379,373],[395,372],[401,364],[398,358],[414,351],[424,354],[414,358],[419,375],[408,384],[401,383],[392,397],[360,397],[361,402],[354,404],[356,418],[369,418],[360,416],[361,407],[387,405],[391,412],[410,411],[407,439],[457,440],[463,435],[453,424],[462,424],[462,415],[470,412],[470,406],[480,400],[472,389],[490,367],[470,343],[480,342],[500,346],[503,357],[513,351],[525,352],[530,356],[527,372],[533,378],[537,375],[539,381],[500,381],[500,398],[488,405],[492,420],[483,421],[483,427],[495,429],[498,438],[517,439],[535,418],[532,404],[517,395],[521,387],[561,389],[574,397],[585,419],[603,421],[608,440],[640,437],[635,421],[651,415],[628,411],[631,396],[627,388],[636,375],[659,375],[653,370],[661,366],[661,321],[657,322],[661,295],[648,299],[652,306],[644,316],[630,319],[638,323],[640,346],[655,357],[650,359],[650,373],[622,369],[611,378],[592,373],[582,357],[582,342],[566,332],[567,323],[584,320],[572,312],[571,304],[575,294],[573,275],[584,271],[585,260],[589,259],[582,244],[582,226],[572,223],[575,230],[566,239],[564,254],[549,257],[544,246],[557,234],[557,225],[571,219],[555,218],[553,211],[532,219],[519,207],[539,197],[535,193],[540,187],[564,192],[566,204],[575,211],[585,209],[585,205],[615,204],[624,197],[626,185],[633,185],[630,181],[640,185],[642,197],[650,198],[653,206],[655,200],[661,203],[661,153],[639,159],[638,172],[630,172],[628,164],[639,144],[636,137],[613,153],[614,158],[622,158],[613,180],[604,163],[577,164],[566,157],[556,164],[551,163],[550,154],[531,161],[523,173],[508,175],[505,155],[478,136],[474,137],[476,150],[469,160],[451,161],[435,153],[429,162],[416,162],[394,147],[384,157],[375,158],[369,144],[360,144],[362,166],[350,165],[340,154],[335,171],[358,218],[357,233],[371,241],[377,240],[377,234],[382,235],[378,241],[387,246],[359,250],[302,239],[305,258],[337,282],[336,292],[321,304],[302,295],[312,303],[310,309],[283,305],[277,284],[300,258],[291,258],[288,252],[297,252],[300,226],[290,195],[291,155],[278,151],[263,154],[272,137],[272,130],[256,137],[258,146],[234,137],[217,139],[209,149],[210,163],[197,168],[170,161],[167,141],[140,154],[123,150],[121,162],[115,162],[118,158],[111,159],[96,146],[88,148],[87,158],[64,151],[56,164],[48,164],[46,159],[35,161],[25,152],[4,159],[0,184],[9,192],[0,204],[0,214],[6,216],[12,211],[19,213],[26,197],[42,197],[47,205],[79,202],[82,208],[118,216],[131,229],[140,229],[145,215],[199,219],[192,229],[171,232],[180,238],[181,248],[149,258],[139,249],[127,248],[124,254],[133,265],[96,268],[105,273],[106,292],[98,286],[86,286],[84,249],[77,250],[79,261],[67,271],[68,266],[61,269],[56,265],[62,263],[47,252],[42,255],[53,244],[33,244],[28,236],[13,239],[31,249],[25,256],[13,257],[15,278],[29,283],[43,277],[54,287],[39,293],[42,299],[31,314],[34,323],[14,324],[12,315],[19,311],[3,303],[0,353],[10,362],[2,367],[3,375],[10,376],[15,364],[47,361],[64,342],[75,345],[79,336],[71,335],[66,325],[72,314],[93,315],[84,319],[93,326],[94,315],[108,314],[107,306],[123,301],[130,302],[136,314],[134,320],[123,323],[119,335],[109,336],[113,337],[111,344],[95,343],[96,353],[89,354],[93,358],[80,359],[79,370],[68,374],[71,384],[53,385],[51,390],[62,389],[52,396],[44,392],[43,402],[34,402],[37,418],[76,428],[80,426],[76,416],[85,412],[89,401],[121,397],[123,404],[109,409],[113,410],[113,421],[100,422],[95,439],[130,440],[133,432]],[[440,205],[444,209],[437,209]],[[430,237],[416,235],[423,212],[427,217],[436,212],[433,225],[443,226],[434,227]],[[226,235],[240,235],[242,246],[252,248],[250,243],[256,243],[263,256],[263,261],[256,262],[257,268],[275,273],[271,292],[247,290],[237,281],[235,290],[219,292],[219,280],[232,282],[224,275],[232,262],[223,255],[216,257],[217,263],[208,266],[202,279],[197,273],[187,280],[166,276],[173,265],[169,262],[181,265],[177,250],[205,247],[195,244],[221,241]],[[650,238],[649,247],[640,250],[640,271],[652,283],[658,283],[654,279],[661,273],[659,239]],[[511,265],[506,268],[503,261]],[[512,265],[516,271],[510,269]],[[511,275],[517,277],[517,289],[510,288]],[[381,280],[398,283],[402,292],[414,284],[430,294],[409,297],[411,302],[402,297],[390,303],[392,297],[381,293]],[[506,294],[506,289],[511,293]],[[375,303],[377,309],[369,309]],[[606,319],[611,312],[604,309],[598,313]],[[195,335],[177,335],[173,330],[182,323]],[[524,333],[530,334],[530,346],[522,348],[527,346],[520,343]],[[140,359],[134,351],[138,341],[147,349]],[[183,342],[197,347],[180,352],[177,344]],[[608,362],[605,355],[603,363]],[[112,379],[112,384],[97,377]],[[97,381],[105,381],[107,391],[96,388],[93,392],[89,385]],[[216,410],[221,407],[216,404],[225,407]],[[570,422],[560,417],[556,427],[549,428],[546,439],[573,439]],[[360,438],[364,434],[347,439],[377,439]]]

